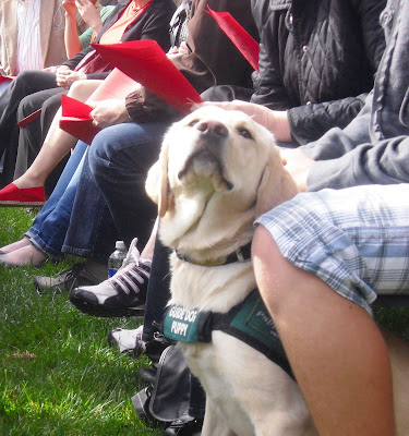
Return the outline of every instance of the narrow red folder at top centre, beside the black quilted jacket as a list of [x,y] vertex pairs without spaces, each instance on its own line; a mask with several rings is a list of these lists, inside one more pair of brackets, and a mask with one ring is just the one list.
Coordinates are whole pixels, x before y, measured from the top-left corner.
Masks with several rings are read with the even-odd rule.
[[231,39],[253,69],[258,72],[258,43],[249,35],[229,12],[215,12],[208,8],[207,13],[216,20],[221,31]]

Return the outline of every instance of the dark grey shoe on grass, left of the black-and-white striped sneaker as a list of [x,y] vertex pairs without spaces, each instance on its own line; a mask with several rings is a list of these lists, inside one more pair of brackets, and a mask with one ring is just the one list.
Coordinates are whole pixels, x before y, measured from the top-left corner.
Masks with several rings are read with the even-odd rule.
[[75,264],[72,268],[65,269],[57,277],[34,277],[34,286],[39,293],[71,292],[75,287],[97,284],[99,282],[100,278],[89,271],[86,263]]

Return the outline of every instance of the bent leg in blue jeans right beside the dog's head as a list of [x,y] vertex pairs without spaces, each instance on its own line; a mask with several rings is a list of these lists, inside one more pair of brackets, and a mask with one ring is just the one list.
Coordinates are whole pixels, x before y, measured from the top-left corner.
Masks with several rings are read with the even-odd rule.
[[[136,235],[140,251],[143,249],[157,214],[156,206],[145,193],[145,179],[147,170],[158,157],[166,125],[161,123],[125,123],[104,129],[95,136],[86,164],[89,167],[89,173],[87,181],[83,180],[79,186],[64,252],[81,255],[82,246],[94,238],[96,246],[101,243],[101,241],[98,242],[101,235],[106,242],[108,241],[106,237],[110,234],[108,228],[103,230],[100,227],[93,235],[88,234],[86,241],[83,241],[77,234],[77,226],[73,225],[75,217],[80,223],[84,220],[84,214],[87,217],[88,211],[92,211],[89,205],[96,203],[95,199],[89,198],[86,210],[77,202],[88,196],[87,191],[94,184],[100,190],[98,202],[106,203],[112,216],[113,223],[109,226],[117,229],[127,246]],[[115,240],[105,249],[107,257],[113,247]]]

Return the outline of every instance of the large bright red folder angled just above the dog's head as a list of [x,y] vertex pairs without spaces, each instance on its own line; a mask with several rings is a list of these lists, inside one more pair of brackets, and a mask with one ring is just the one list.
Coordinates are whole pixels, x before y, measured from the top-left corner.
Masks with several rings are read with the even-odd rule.
[[187,113],[194,102],[203,101],[155,40],[92,46],[112,66],[117,66],[181,112]]

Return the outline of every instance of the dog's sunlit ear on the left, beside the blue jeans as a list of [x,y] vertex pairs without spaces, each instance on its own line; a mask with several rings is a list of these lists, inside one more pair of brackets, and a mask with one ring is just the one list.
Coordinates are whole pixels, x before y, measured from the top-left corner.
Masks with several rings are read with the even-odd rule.
[[163,218],[169,208],[168,184],[168,146],[164,142],[159,160],[149,169],[145,184],[147,195],[158,205],[159,218]]

